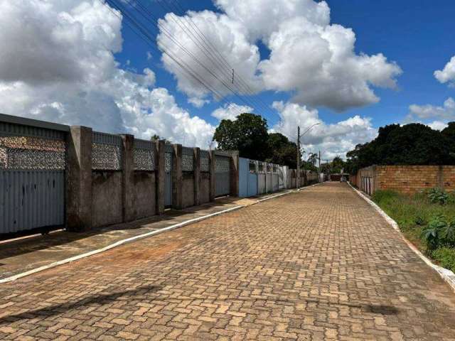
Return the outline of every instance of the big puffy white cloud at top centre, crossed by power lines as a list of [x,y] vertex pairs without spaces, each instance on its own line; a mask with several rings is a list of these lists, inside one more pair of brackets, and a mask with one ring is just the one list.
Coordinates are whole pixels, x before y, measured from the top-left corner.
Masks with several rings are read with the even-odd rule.
[[[313,0],[216,0],[224,13],[188,12],[185,18],[166,15],[161,21],[161,48],[180,56],[191,69],[226,96],[230,91],[230,70],[217,58],[200,48],[196,31],[179,25],[193,20],[214,47],[235,65],[235,72],[251,85],[254,92],[275,90],[294,92],[293,102],[312,107],[322,106],[342,111],[362,107],[380,99],[373,87],[394,89],[402,70],[385,55],[355,53],[355,33],[350,28],[330,23],[330,9],[325,1]],[[171,33],[193,55],[166,37]],[[269,48],[269,58],[259,60],[259,40]],[[215,53],[214,53],[215,54]],[[205,98],[209,91],[195,80],[188,80],[168,55],[162,59],[166,69],[178,80],[180,90],[189,97]],[[222,81],[217,80],[202,65]],[[232,87],[232,85],[230,85]],[[235,87],[237,84],[234,85]],[[240,85],[236,87],[245,93]]]

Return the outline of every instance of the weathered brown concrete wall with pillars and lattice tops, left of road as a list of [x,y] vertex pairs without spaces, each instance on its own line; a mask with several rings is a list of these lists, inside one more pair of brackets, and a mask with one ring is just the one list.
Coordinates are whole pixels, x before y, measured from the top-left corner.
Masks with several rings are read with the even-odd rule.
[[[92,170],[98,167],[97,158],[100,158],[99,153],[92,153],[93,143],[111,146],[111,150],[112,146],[117,148],[116,153],[107,152],[107,157],[113,158],[108,161],[117,162],[115,166],[107,162],[103,171]],[[70,127],[65,218],[68,229],[82,231],[164,213],[166,153],[172,155],[173,209],[215,200],[215,151],[208,153],[210,169],[207,171],[207,163],[201,163],[200,149],[193,148],[193,171],[187,172],[183,171],[182,148],[179,144],[169,148],[165,141],[151,144],[150,141],[137,141],[133,135],[114,136],[93,132],[89,127]],[[154,158],[145,159],[149,168],[141,168],[144,167],[144,150],[150,151]],[[237,151],[225,154],[230,158],[230,195],[237,197],[239,155]],[[191,155],[187,148],[185,155]],[[204,160],[205,155],[207,153],[204,153]],[[204,165],[204,171],[201,165]]]

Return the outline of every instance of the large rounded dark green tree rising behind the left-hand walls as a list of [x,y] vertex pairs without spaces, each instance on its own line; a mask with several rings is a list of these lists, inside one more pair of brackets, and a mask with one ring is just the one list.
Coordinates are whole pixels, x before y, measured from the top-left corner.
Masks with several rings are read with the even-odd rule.
[[222,150],[237,150],[243,158],[265,160],[270,156],[267,120],[260,115],[240,114],[235,121],[223,119],[213,140]]

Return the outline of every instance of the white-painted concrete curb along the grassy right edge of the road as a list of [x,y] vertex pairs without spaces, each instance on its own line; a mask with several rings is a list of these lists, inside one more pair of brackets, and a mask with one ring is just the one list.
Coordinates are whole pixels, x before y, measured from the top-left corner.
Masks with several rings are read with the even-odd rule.
[[397,224],[397,222],[395,222],[395,220],[393,220],[391,217],[389,217],[389,215],[387,215],[387,213],[385,213],[381,207],[376,205],[375,202],[373,202],[373,200],[371,200],[369,197],[367,197],[362,192],[360,192],[360,190],[354,188],[353,185],[351,185],[350,183],[348,183],[348,184],[350,185],[350,188],[352,188],[355,191],[355,193],[360,195],[360,197],[363,197],[363,199],[366,202],[368,202],[371,206],[373,206],[373,208],[382,217],[384,217],[384,219],[395,230],[397,230],[397,232],[400,234],[400,236],[405,241],[407,246],[410,247],[410,249],[412,249],[412,251],[414,251],[414,253],[417,254],[417,256],[419,256],[420,259],[422,259],[422,261],[424,261],[429,267],[431,267],[434,271],[436,271],[439,274],[439,276],[441,276],[441,278],[444,279],[444,281],[446,281],[446,283],[448,283],[449,286],[451,286],[452,290],[455,292],[455,274],[448,269],[444,269],[443,267],[434,264],[430,259],[427,258],[427,256],[424,256],[424,254],[422,254],[422,252],[420,252],[419,249],[417,249],[417,247],[414,246],[414,244],[412,244],[409,240],[406,239],[405,235],[402,234],[402,232],[400,231],[400,227],[398,227],[398,224]]

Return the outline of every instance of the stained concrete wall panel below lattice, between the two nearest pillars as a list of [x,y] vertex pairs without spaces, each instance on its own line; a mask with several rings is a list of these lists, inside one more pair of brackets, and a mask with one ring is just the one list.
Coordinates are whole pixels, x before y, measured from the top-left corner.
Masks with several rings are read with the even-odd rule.
[[122,222],[122,172],[92,172],[92,227]]

